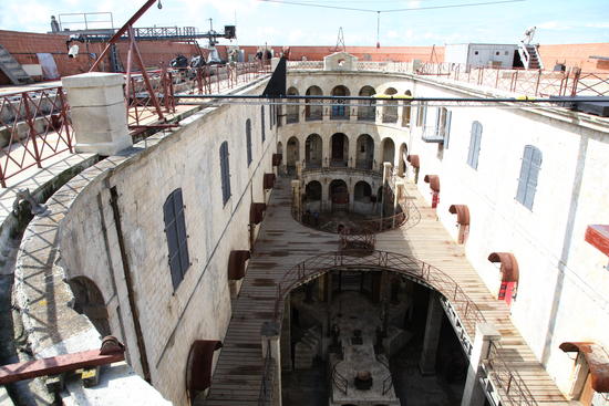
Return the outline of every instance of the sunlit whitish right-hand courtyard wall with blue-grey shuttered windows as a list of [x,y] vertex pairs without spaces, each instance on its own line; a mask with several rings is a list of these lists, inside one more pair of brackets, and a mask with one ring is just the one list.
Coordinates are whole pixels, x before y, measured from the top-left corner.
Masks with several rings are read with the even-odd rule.
[[[423,82],[415,91],[420,96],[464,95]],[[520,280],[514,323],[568,392],[572,361],[558,345],[593,341],[609,347],[609,272],[602,268],[608,259],[584,240],[588,225],[609,222],[609,126],[571,112],[450,110],[447,148],[422,142],[421,128],[412,127],[411,154],[421,158],[420,179],[440,176],[437,215],[455,239],[456,216],[448,207],[468,206],[467,257],[495,294],[499,271],[487,257],[494,251],[515,254]],[[473,121],[483,125],[477,170],[466,163]],[[515,199],[525,145],[543,153],[533,210]],[[420,180],[419,188],[431,202],[429,185]]]

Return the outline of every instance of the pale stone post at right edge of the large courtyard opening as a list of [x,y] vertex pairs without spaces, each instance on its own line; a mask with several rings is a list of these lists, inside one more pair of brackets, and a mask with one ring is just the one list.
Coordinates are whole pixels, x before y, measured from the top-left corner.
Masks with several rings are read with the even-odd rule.
[[491,343],[500,339],[502,335],[493,324],[479,323],[476,325],[476,337],[472,346],[467,381],[463,389],[461,406],[484,406],[486,395],[479,383],[481,365],[488,357]]

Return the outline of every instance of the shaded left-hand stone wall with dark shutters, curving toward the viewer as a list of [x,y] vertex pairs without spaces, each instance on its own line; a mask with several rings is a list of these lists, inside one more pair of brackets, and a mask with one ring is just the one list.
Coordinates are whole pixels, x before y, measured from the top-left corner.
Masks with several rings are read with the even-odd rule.
[[[247,92],[259,93],[262,84]],[[254,128],[249,165],[248,118]],[[224,339],[231,314],[229,253],[250,249],[259,228],[249,225],[250,206],[270,195],[262,179],[272,173],[275,129],[269,121],[262,127],[257,107],[208,108],[184,119],[173,133],[158,133],[120,157],[104,159],[54,194],[51,215],[30,223],[18,258],[16,296],[34,354],[97,348],[100,333],[86,315],[102,314],[110,333],[126,344],[130,365],[154,386],[128,368],[111,372],[107,376],[127,385],[117,402],[128,404],[130,396],[147,387],[149,396],[143,393],[140,400],[164,404],[164,396],[187,404],[190,344]],[[219,169],[224,143],[230,176],[226,201]],[[164,204],[176,189],[183,190],[189,253],[177,285],[164,222]],[[79,288],[75,293],[69,283]],[[99,294],[87,294],[87,285]],[[74,298],[82,291],[89,298]],[[102,305],[90,300],[100,295]],[[82,385],[72,389],[82,398],[91,395]],[[107,398],[116,399],[116,394]]]

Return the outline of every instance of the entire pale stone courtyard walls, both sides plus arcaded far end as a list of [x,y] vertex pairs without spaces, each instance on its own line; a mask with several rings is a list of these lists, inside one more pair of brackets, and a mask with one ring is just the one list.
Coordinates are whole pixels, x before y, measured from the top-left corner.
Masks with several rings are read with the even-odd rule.
[[[358,94],[364,85],[374,87],[376,93],[393,87],[400,95],[406,91],[414,96],[474,94],[410,75],[350,72],[290,72],[288,75],[288,87],[296,87],[299,94],[312,85],[319,86],[323,94],[331,94],[339,84],[351,94]],[[259,94],[261,91],[262,86],[257,85],[248,92]],[[497,291],[500,277],[497,268],[488,262],[488,254],[514,253],[520,269],[518,293],[512,305],[514,321],[560,388],[569,392],[572,360],[559,351],[558,345],[564,341],[595,341],[609,347],[605,329],[609,322],[608,305],[606,294],[602,295],[609,291],[609,274],[603,268],[607,257],[584,241],[589,223],[609,222],[606,204],[609,176],[605,165],[609,156],[608,124],[549,108],[448,106],[452,112],[450,140],[438,145],[421,139],[422,128],[435,123],[435,107],[427,107],[425,122],[417,123],[417,108],[401,107],[395,122],[383,123],[382,103],[378,104],[374,123],[358,122],[354,112],[349,121],[331,119],[329,107],[323,107],[322,119],[307,122],[304,108],[300,107],[299,123],[287,124],[281,116],[286,110],[281,110],[279,129],[276,126],[271,129],[270,108],[265,106],[264,143],[260,106],[205,110],[184,121],[172,134],[155,135],[147,144],[142,142],[125,152],[123,157],[103,160],[54,196],[59,200],[62,194],[66,196],[64,215],[58,219],[55,247],[61,260],[60,268],[54,268],[56,283],[63,278],[92,280],[103,295],[112,334],[127,345],[130,364],[143,373],[138,341],[145,343],[154,387],[174,404],[187,404],[185,369],[189,345],[198,339],[224,337],[231,312],[228,256],[231,250],[250,248],[250,204],[268,199],[262,176],[272,171],[271,155],[278,149],[278,143],[281,143],[285,164],[288,140],[297,137],[302,160],[307,137],[319,134],[323,139],[323,155],[329,157],[330,137],[343,133],[349,137],[349,156],[353,157],[357,137],[369,134],[374,140],[379,164],[384,160],[383,140],[390,138],[395,147],[393,164],[398,168],[404,166],[401,173],[412,181],[417,171],[410,164],[406,166],[404,155],[419,156],[417,184],[420,190],[430,196],[430,202],[431,194],[423,176],[440,177],[437,216],[448,230],[454,230],[455,239],[455,216],[448,214],[448,206],[469,207],[467,256],[492,292]],[[410,115],[410,122],[405,115]],[[245,146],[248,118],[251,119],[254,157],[249,166]],[[483,125],[477,169],[466,164],[473,121]],[[229,146],[233,192],[223,205],[219,148],[225,140]],[[533,210],[514,199],[525,145],[535,145],[543,153]],[[174,291],[167,264],[163,205],[177,188],[182,188],[184,197],[192,264]],[[121,257],[111,200],[120,209],[125,258]],[[33,235],[33,227],[42,227],[40,221],[48,220],[35,221],[27,236]],[[31,239],[23,240],[22,258],[37,248],[32,243]],[[134,275],[141,337],[133,325],[127,299],[125,260]],[[52,268],[52,261],[43,263]],[[546,334],[548,329],[551,336]]]

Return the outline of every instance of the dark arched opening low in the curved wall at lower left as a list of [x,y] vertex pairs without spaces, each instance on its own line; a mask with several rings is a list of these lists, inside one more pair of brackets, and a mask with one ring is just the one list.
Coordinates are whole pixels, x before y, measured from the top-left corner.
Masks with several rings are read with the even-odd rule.
[[111,335],[104,296],[95,282],[86,277],[75,277],[68,284],[74,294],[74,310],[86,315],[102,337]]

